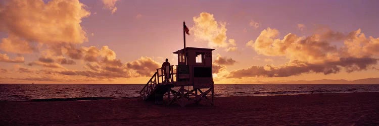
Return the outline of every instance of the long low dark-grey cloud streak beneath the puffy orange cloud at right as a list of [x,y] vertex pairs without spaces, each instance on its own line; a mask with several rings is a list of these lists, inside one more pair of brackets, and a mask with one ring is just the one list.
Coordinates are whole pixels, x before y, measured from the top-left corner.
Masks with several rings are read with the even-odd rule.
[[368,66],[376,63],[377,59],[369,57],[347,57],[338,61],[325,62],[324,64],[309,64],[304,61],[294,60],[279,67],[272,65],[251,66],[247,69],[235,70],[230,72],[227,78],[289,77],[311,72],[328,75],[340,72],[341,68],[345,68],[347,72],[367,70]]

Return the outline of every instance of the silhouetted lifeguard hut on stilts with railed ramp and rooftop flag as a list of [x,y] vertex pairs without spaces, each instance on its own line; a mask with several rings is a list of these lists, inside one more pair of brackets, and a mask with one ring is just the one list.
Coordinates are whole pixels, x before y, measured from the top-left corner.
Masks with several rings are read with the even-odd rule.
[[[186,28],[184,22],[183,27]],[[156,103],[167,99],[167,104],[180,106],[206,102],[213,105],[214,86],[212,78],[211,48],[185,47],[174,51],[177,65],[164,70],[157,69],[145,87],[139,92],[143,100],[155,100]],[[163,98],[167,96],[167,98]]]

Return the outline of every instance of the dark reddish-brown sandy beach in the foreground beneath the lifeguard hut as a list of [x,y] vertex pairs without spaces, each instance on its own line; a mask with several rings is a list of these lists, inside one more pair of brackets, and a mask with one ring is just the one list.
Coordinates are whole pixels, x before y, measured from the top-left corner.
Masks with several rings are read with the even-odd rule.
[[379,93],[216,97],[215,105],[155,105],[139,98],[0,101],[0,125],[368,125]]

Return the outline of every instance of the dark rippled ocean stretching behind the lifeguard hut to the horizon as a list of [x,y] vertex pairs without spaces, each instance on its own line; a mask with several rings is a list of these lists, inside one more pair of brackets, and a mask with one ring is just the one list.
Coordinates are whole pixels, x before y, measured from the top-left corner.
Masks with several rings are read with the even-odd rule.
[[[139,97],[143,84],[0,84],[0,100],[114,99]],[[379,92],[379,85],[215,84],[215,96]]]

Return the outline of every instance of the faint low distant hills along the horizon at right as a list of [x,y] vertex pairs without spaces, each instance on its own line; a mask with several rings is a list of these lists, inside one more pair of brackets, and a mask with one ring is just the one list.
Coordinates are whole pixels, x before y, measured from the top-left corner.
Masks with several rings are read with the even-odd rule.
[[266,82],[265,84],[379,84],[379,78],[366,78],[358,79],[353,81],[348,80],[331,80],[331,79],[322,79],[322,80],[297,80],[297,81],[279,81],[279,82]]

